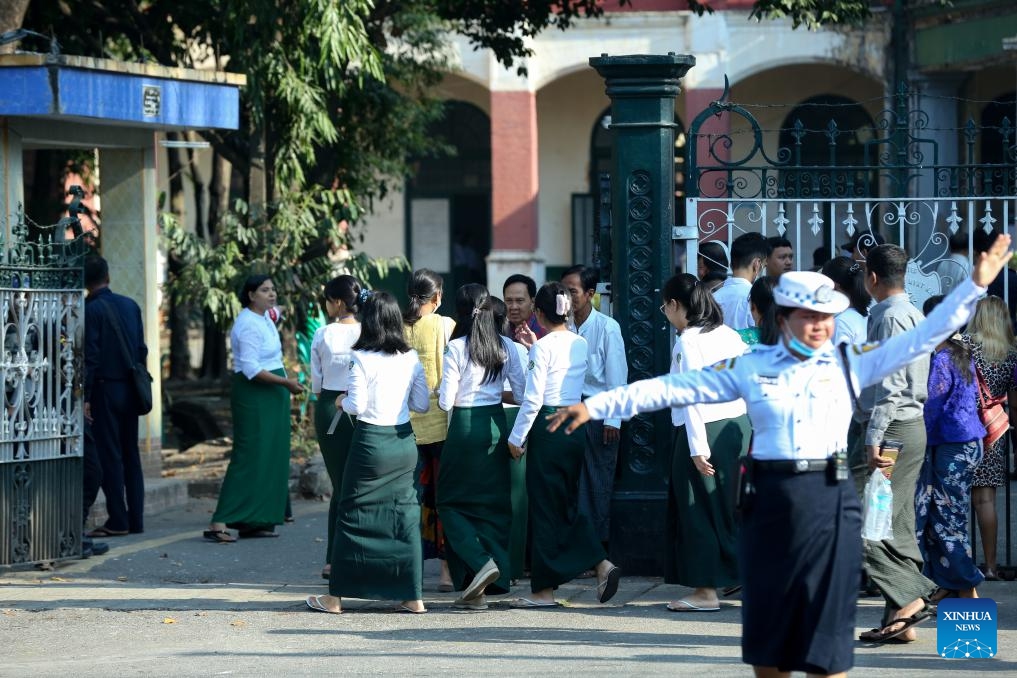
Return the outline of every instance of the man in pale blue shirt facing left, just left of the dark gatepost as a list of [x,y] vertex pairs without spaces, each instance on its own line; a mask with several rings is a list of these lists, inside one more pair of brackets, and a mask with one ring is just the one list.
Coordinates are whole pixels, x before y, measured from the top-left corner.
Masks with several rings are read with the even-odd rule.
[[[583,397],[629,383],[629,364],[621,327],[610,316],[593,307],[600,275],[582,264],[561,274],[561,284],[572,294],[577,333],[589,347]],[[609,419],[586,429],[586,460],[579,483],[579,507],[593,522],[605,548],[610,535],[611,492],[618,460],[621,421]]]

